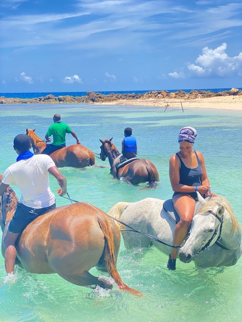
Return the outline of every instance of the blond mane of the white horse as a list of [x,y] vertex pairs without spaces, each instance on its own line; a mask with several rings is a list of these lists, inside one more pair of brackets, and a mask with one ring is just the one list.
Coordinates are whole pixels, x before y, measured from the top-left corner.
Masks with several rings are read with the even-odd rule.
[[232,227],[233,227],[233,233],[235,233],[236,229],[241,230],[240,224],[237,220],[237,218],[234,215],[233,209],[228,202],[228,200],[225,197],[222,196],[216,196],[212,197],[208,202],[202,205],[202,207],[199,209],[197,214],[203,214],[211,209],[213,209],[215,206],[224,206],[225,210],[227,210],[231,220],[232,220]]

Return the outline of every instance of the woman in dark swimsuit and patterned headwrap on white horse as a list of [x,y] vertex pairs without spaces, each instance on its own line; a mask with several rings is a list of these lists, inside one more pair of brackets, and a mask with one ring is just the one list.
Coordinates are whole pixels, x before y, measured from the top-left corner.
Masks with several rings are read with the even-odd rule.
[[[197,131],[190,126],[180,130],[178,136],[179,152],[170,157],[169,174],[173,194],[173,204],[180,221],[176,224],[173,245],[180,245],[193,220],[197,191],[209,195],[209,180],[203,154],[193,149]],[[214,194],[212,194],[214,196]],[[169,255],[167,267],[175,270],[177,249]]]

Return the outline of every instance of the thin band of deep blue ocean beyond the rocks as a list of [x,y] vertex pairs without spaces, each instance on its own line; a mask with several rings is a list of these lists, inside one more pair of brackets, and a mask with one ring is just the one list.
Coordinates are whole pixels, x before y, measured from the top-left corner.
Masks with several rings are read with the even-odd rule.
[[[223,91],[229,91],[231,88],[224,88],[224,89],[194,89],[196,91],[210,91],[212,93],[215,92],[223,92]],[[242,91],[242,88],[238,88],[239,91]],[[94,92],[94,91],[89,91],[89,92],[94,92],[94,93],[101,93],[103,95],[108,95],[108,94],[144,94],[147,92],[152,92],[152,91],[162,91],[162,90],[147,90],[147,91],[110,91],[110,92]],[[184,91],[184,92],[191,92],[192,89],[186,89],[186,90],[164,90],[168,91],[169,93],[171,92],[178,92],[178,91]],[[29,93],[0,93],[0,96],[4,96],[6,98],[20,98],[20,99],[33,99],[33,98],[38,98],[38,97],[45,97],[46,95],[52,94],[55,97],[58,96],[65,96],[65,95],[70,95],[73,97],[77,96],[86,96],[87,92],[29,92]]]

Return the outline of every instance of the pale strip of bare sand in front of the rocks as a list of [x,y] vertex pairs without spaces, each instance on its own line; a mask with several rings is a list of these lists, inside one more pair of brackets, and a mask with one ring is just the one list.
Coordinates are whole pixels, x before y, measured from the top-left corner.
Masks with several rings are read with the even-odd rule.
[[103,105],[135,105],[135,106],[157,106],[168,108],[206,108],[206,109],[226,109],[226,110],[242,110],[242,96],[217,96],[198,99],[136,99],[136,100],[119,100],[113,102],[94,103]]

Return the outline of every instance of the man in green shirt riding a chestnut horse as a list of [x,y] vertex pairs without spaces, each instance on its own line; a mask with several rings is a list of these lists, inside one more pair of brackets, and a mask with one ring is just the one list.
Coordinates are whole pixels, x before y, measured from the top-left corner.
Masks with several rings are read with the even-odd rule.
[[66,146],[66,133],[71,133],[72,136],[77,140],[77,144],[81,144],[76,133],[66,123],[61,122],[61,115],[54,114],[54,123],[50,125],[45,138],[49,142],[49,136],[53,135],[53,143],[48,144],[46,148],[41,152],[43,154],[50,154],[62,147]]

